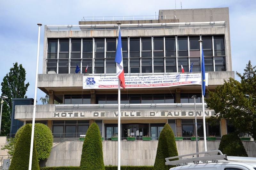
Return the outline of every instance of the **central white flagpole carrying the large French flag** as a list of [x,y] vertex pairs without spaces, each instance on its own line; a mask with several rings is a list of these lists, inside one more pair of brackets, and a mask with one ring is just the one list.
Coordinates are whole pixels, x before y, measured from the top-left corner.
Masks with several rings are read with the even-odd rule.
[[[118,31],[120,32],[120,24],[118,24]],[[119,33],[118,32],[118,33]],[[118,164],[117,170],[121,170],[121,113],[120,113],[120,97],[121,90],[120,90],[120,79],[118,78]]]

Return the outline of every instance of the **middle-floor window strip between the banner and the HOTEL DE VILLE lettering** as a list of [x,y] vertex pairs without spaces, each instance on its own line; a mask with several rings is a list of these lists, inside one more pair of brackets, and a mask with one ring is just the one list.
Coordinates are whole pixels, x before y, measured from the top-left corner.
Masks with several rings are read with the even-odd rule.
[[[194,103],[192,96],[196,95],[196,103],[201,103],[201,93],[180,93],[181,103]],[[146,103],[176,103],[173,94],[121,94],[121,104],[146,104]],[[118,104],[117,94],[97,94],[96,104]],[[64,104],[91,104],[90,94],[66,94]]]

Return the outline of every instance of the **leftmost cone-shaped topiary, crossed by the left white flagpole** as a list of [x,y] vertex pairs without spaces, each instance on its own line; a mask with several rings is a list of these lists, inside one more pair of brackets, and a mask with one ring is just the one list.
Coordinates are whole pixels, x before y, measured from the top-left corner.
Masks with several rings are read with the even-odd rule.
[[[30,142],[31,142],[32,128],[29,124],[26,124],[23,130],[20,132],[20,137],[17,140],[14,154],[12,157],[9,170],[21,170],[28,169],[29,155],[30,155]],[[32,170],[39,170],[39,163],[36,152],[36,141],[33,142],[33,156],[32,156]]]

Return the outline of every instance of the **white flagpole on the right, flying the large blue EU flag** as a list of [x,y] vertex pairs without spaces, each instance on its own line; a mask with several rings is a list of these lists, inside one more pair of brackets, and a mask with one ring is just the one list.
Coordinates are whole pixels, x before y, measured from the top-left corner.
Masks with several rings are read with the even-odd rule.
[[[202,67],[202,42],[203,40],[200,38],[199,40],[199,43],[200,43],[200,58],[201,58],[201,67]],[[203,72],[202,72],[202,69],[201,69],[201,82],[202,82],[202,85],[201,85],[201,89],[202,89],[202,106],[203,106],[203,127],[204,127],[204,151],[206,152],[207,151],[207,145],[206,145],[206,128],[205,128],[205,113],[204,113],[204,92],[203,92]],[[196,129],[197,130],[197,129]]]

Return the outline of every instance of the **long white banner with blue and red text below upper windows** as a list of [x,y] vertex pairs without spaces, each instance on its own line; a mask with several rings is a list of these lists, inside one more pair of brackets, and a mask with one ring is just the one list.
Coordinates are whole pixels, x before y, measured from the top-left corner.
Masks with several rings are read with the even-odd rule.
[[[179,85],[201,85],[201,74],[131,75],[124,76],[125,88],[171,87]],[[205,73],[208,85],[208,73]],[[117,76],[84,76],[83,89],[118,88]]]

